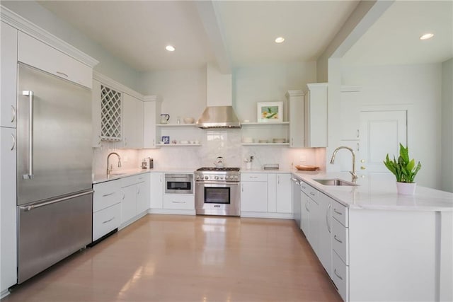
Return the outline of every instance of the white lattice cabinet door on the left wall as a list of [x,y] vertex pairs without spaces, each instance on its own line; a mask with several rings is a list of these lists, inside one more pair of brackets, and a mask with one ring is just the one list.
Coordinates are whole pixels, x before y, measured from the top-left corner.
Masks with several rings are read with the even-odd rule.
[[122,139],[122,93],[101,85],[101,139]]

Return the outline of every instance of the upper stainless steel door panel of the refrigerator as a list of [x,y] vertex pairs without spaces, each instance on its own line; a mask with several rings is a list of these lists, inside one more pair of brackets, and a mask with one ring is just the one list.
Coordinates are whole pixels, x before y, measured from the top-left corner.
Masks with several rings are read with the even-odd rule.
[[[18,64],[18,204],[91,188],[91,96],[87,88]],[[33,91],[33,178],[29,104]]]

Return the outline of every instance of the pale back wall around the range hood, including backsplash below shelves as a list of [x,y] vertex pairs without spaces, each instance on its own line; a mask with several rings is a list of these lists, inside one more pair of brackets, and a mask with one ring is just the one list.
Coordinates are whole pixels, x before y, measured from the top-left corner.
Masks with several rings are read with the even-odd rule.
[[[288,90],[306,88],[306,83],[316,81],[316,63],[267,64],[249,66],[233,71],[233,106],[239,120],[256,121],[256,103],[281,100],[286,104]],[[162,112],[176,117],[191,116],[197,119],[206,106],[206,69],[156,71],[142,74],[140,82],[144,94],[159,95],[163,100]],[[287,108],[285,107],[285,112]],[[301,112],[302,116],[302,112]],[[284,115],[287,120],[287,115]],[[223,156],[228,166],[246,167],[243,159],[255,156],[253,168],[265,163],[279,163],[280,168],[299,165],[301,156],[306,165],[321,165],[316,149],[289,149],[287,146],[242,146],[243,131],[205,130],[201,147],[163,147],[158,150],[143,150],[139,158],[152,157],[156,168],[198,168],[213,166],[217,156]]]

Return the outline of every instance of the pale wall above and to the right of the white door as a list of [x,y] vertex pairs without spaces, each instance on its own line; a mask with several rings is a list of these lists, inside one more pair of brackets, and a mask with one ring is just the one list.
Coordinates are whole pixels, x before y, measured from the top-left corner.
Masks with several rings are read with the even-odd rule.
[[408,108],[410,156],[423,165],[416,181],[440,189],[441,64],[343,66],[342,80],[362,86],[362,108]]

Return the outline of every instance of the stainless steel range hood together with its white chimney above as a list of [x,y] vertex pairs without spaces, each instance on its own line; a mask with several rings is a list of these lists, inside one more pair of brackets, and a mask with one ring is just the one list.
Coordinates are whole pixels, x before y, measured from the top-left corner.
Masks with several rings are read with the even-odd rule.
[[222,74],[216,64],[206,67],[206,108],[197,127],[210,128],[241,128],[241,122],[233,109],[233,89],[231,74]]

